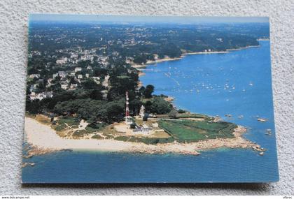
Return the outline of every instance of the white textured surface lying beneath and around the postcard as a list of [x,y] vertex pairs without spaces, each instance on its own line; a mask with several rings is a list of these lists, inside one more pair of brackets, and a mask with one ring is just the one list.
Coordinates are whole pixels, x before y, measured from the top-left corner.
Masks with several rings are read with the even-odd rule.
[[[27,19],[29,13],[269,16],[280,182],[272,184],[82,184],[22,186]],[[291,21],[292,20],[292,21]],[[0,195],[294,195],[293,0],[0,0]]]

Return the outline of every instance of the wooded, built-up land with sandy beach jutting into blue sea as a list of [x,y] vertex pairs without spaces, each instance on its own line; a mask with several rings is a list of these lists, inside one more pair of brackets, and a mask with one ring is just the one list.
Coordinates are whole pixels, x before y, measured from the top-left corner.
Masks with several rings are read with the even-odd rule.
[[146,64],[258,46],[255,26],[237,24],[220,31],[201,26],[47,25],[50,32],[38,22],[30,24],[25,132],[31,153],[262,150],[242,138],[244,127],[178,109],[172,96],[155,95],[153,85],[144,87],[139,80],[144,75],[139,68]]

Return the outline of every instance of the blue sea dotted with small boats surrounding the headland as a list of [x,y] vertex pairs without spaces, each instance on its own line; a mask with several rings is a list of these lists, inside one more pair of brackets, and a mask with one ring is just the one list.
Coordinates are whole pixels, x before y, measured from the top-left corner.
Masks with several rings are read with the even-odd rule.
[[[269,41],[225,54],[193,54],[149,65],[140,80],[155,94],[175,98],[177,108],[248,127],[245,137],[267,149],[216,149],[200,156],[57,152],[24,159],[24,183],[276,182],[274,112]],[[225,117],[232,115],[232,117]],[[260,122],[258,117],[267,118]],[[266,129],[272,135],[266,135]]]

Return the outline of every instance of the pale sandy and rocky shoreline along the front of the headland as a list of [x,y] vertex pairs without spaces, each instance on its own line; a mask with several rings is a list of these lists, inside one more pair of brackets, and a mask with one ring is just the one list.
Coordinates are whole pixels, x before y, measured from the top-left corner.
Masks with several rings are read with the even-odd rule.
[[35,119],[25,117],[25,140],[33,150],[28,151],[29,158],[34,155],[42,155],[62,150],[73,151],[97,151],[97,152],[130,152],[144,154],[191,154],[199,155],[200,151],[209,149],[226,148],[252,148],[260,150],[260,146],[246,140],[241,135],[246,128],[238,126],[235,128],[235,138],[216,138],[200,140],[190,143],[165,143],[158,145],[146,145],[141,142],[124,142],[118,140],[97,140],[97,139],[68,139],[61,138],[50,126],[41,124]]

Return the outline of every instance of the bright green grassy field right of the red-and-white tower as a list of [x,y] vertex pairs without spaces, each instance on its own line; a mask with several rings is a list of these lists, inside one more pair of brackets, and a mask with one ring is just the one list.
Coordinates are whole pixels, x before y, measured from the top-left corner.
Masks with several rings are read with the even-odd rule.
[[236,124],[229,122],[189,121],[189,120],[160,120],[160,128],[179,142],[193,142],[197,140],[215,138],[234,138],[232,134]]

